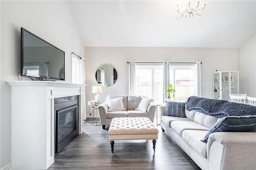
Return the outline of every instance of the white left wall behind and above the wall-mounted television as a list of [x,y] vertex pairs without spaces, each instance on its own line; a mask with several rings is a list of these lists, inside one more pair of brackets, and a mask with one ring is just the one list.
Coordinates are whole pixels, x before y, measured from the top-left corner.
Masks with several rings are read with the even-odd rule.
[[[71,52],[84,47],[65,1],[1,2],[1,168],[11,162],[11,91],[6,81],[20,72],[20,27],[59,47],[66,55],[66,81],[71,82]],[[34,127],[36,128],[36,127]],[[36,154],[36,153],[35,153]]]

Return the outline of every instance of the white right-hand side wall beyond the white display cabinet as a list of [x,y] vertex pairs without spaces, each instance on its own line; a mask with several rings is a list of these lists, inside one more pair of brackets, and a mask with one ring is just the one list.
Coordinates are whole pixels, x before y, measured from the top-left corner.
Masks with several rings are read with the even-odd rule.
[[256,33],[240,50],[240,93],[256,97]]

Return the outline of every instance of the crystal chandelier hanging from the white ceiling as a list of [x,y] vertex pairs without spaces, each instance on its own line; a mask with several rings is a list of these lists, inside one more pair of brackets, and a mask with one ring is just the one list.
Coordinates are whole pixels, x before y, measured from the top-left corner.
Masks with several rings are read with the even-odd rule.
[[186,18],[186,17],[194,17],[196,15],[201,16],[202,12],[206,7],[206,0],[201,1],[189,1],[184,8],[180,8],[179,4],[177,4],[177,19]]

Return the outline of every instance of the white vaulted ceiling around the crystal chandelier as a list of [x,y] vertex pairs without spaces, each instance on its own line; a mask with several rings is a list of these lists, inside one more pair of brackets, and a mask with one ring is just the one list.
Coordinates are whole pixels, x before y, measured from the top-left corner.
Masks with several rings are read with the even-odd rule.
[[70,1],[84,46],[240,47],[256,32],[256,1],[208,1],[176,19],[177,1]]

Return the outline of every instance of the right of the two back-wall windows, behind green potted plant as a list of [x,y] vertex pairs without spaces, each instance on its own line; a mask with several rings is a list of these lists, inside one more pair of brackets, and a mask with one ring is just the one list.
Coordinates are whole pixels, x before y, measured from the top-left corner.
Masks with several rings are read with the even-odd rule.
[[170,66],[170,84],[176,90],[175,101],[184,102],[189,96],[196,95],[195,69],[195,64]]

